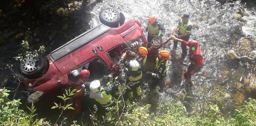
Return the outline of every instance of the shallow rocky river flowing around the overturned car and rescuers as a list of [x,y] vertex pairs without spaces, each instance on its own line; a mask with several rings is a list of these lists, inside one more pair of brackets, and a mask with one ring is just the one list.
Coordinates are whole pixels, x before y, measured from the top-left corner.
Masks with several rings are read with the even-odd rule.
[[[7,36],[0,39],[0,63],[14,62],[12,57],[21,52],[20,42],[24,38],[31,42],[32,49],[39,45],[45,45],[47,53],[51,52],[90,27],[99,24],[98,14],[102,8],[116,8],[139,18],[144,30],[149,15],[157,15],[158,20],[167,31],[164,37],[173,32],[177,21],[183,14],[189,13],[193,23],[190,39],[199,42],[205,58],[203,68],[192,76],[192,94],[201,88],[220,87],[231,95],[231,99],[234,99],[233,103],[236,104],[242,104],[249,96],[255,97],[255,94],[248,89],[249,86],[256,83],[255,62],[230,61],[226,57],[228,50],[234,50],[238,57],[256,58],[256,2],[253,0],[224,4],[216,0],[104,0],[93,4],[93,6],[84,5],[85,9],[75,8],[74,11],[71,10],[72,14],[70,15],[58,14],[56,11],[56,13],[50,14],[54,9],[58,10],[60,7],[66,6],[68,10],[68,7],[65,3],[52,10],[47,10],[51,8],[47,2],[50,1],[42,2],[45,8],[39,7],[39,9],[36,9],[38,4],[35,2],[34,4],[37,5],[35,7],[29,7],[31,4],[26,5],[28,10],[24,13],[29,13],[25,14],[29,15],[28,17],[20,15],[1,20],[0,23],[5,27],[1,26],[0,35],[2,34],[1,37]],[[81,4],[79,1],[77,2],[76,4]],[[56,5],[56,1],[52,1],[52,3]],[[30,12],[32,9],[43,13],[35,16],[36,12]],[[63,13],[63,11],[59,13]],[[3,14],[4,12],[2,12],[2,17]],[[21,13],[12,16],[18,14]],[[11,25],[12,23],[14,25]],[[19,37],[19,33],[21,33],[21,37]],[[146,32],[145,35],[147,35]],[[169,51],[172,48],[173,44],[165,47]],[[170,59],[165,80],[167,88],[164,93],[160,93],[159,102],[179,97],[185,90],[182,72],[186,70],[186,66],[181,65],[179,61],[180,45],[178,45],[176,53],[177,55],[173,55]],[[189,62],[187,56],[184,64],[189,65]],[[8,74],[2,74],[1,79],[3,80],[6,76]],[[145,94],[149,94],[148,83],[149,81],[145,80],[143,85]],[[195,97],[195,99],[198,98]],[[145,102],[148,103],[148,101]],[[230,109],[226,109],[227,113]]]

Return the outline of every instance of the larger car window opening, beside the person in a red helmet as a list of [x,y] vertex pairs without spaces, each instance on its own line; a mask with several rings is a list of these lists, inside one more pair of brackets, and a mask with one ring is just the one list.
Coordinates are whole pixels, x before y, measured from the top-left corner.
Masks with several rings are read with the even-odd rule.
[[90,76],[88,77],[88,82],[95,79],[101,79],[103,75],[109,75],[111,71],[106,67],[106,65],[99,59],[95,58],[83,66],[79,67],[77,70],[88,69],[90,71]]

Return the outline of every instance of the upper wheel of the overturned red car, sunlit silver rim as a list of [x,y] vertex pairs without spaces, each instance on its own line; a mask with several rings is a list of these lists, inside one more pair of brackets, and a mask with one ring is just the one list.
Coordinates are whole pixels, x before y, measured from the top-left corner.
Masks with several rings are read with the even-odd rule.
[[119,26],[120,13],[116,9],[106,8],[100,11],[99,20],[108,27],[116,28]]

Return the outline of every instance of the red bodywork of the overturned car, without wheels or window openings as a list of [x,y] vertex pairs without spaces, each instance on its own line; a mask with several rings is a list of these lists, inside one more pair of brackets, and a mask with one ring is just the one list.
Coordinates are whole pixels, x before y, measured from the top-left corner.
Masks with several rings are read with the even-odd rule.
[[[62,87],[80,87],[81,84],[70,81],[68,73],[94,58],[100,59],[114,74],[115,71],[111,70],[114,61],[107,54],[108,51],[120,44],[125,44],[128,47],[130,41],[139,38],[141,38],[142,43],[147,42],[141,29],[141,22],[137,18],[125,18],[124,23],[117,28],[100,24],[52,51],[46,56],[49,61],[48,71],[37,79],[25,79],[23,84],[30,94],[37,91],[43,93],[41,96],[32,98],[36,102],[41,97],[52,96]],[[103,50],[100,51],[97,45],[100,45]],[[93,49],[98,53],[95,54]],[[32,84],[31,87],[28,87],[29,83]]]

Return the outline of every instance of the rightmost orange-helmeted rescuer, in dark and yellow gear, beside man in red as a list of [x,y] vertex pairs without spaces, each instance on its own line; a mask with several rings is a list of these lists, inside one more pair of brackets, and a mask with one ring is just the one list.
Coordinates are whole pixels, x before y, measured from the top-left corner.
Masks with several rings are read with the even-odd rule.
[[166,76],[167,68],[168,68],[168,59],[170,57],[170,53],[166,50],[162,50],[159,52],[158,57],[155,63],[154,72],[148,71],[146,74],[151,75],[153,78],[152,89],[160,89],[158,84],[160,84]]

